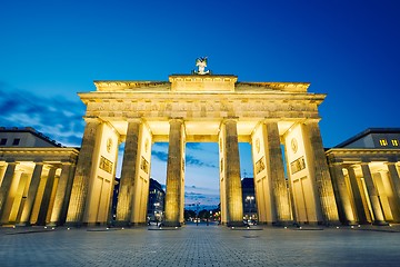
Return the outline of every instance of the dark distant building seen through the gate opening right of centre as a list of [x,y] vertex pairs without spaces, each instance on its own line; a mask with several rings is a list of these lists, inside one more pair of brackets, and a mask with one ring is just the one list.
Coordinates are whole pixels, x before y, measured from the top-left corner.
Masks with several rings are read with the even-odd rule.
[[254,179],[243,178],[241,180],[243,199],[243,218],[257,220],[257,202],[254,191]]

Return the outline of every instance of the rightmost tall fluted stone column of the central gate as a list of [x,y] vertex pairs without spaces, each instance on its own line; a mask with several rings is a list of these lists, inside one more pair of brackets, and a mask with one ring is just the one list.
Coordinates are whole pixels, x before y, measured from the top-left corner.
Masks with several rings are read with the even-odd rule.
[[[338,224],[339,214],[334,200],[334,192],[329,174],[327,156],[324,154],[322,138],[317,120],[309,120],[306,123],[308,137],[311,144],[311,160],[313,162],[314,180],[321,202],[322,215],[326,224]],[[306,137],[307,138],[307,137]]]

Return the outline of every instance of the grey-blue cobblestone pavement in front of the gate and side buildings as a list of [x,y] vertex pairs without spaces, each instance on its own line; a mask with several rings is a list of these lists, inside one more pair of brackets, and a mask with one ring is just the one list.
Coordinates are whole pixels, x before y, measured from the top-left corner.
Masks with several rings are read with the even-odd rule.
[[400,266],[400,227],[3,227],[0,266]]

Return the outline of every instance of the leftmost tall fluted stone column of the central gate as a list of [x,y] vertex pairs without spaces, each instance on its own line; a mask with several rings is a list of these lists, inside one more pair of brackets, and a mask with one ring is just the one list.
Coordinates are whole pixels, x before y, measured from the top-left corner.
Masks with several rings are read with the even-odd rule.
[[96,146],[96,137],[100,120],[86,118],[87,126],[83,132],[82,146],[79,152],[77,170],[73,179],[71,199],[68,208],[67,224],[81,225],[89,189],[89,180],[92,170],[92,158]]

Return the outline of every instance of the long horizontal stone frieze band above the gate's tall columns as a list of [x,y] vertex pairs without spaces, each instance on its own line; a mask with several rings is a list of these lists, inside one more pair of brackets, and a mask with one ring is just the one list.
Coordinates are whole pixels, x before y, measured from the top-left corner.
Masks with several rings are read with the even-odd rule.
[[[272,117],[287,118],[318,118],[316,105],[282,103],[279,101],[158,101],[137,100],[89,102],[87,116],[113,117],[126,112],[130,116],[143,117],[171,117],[179,116],[188,118],[197,117]],[[156,112],[156,113],[154,113]]]

